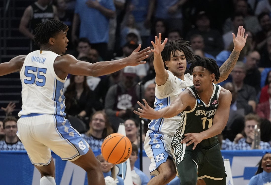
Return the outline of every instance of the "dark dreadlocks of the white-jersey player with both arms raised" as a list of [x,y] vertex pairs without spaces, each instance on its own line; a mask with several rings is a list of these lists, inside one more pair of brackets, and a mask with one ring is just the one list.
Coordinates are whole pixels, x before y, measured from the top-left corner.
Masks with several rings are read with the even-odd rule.
[[[163,43],[164,41],[161,41]],[[173,41],[169,41],[166,43],[163,51],[161,52],[161,56],[163,61],[169,61],[170,60],[170,54],[175,55],[176,50],[182,51],[185,54],[186,61],[193,60],[194,59],[194,53],[189,49],[191,45],[188,41],[185,41],[183,39],[177,39]],[[151,56],[151,62],[153,62],[153,55]]]

